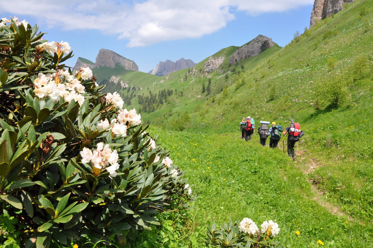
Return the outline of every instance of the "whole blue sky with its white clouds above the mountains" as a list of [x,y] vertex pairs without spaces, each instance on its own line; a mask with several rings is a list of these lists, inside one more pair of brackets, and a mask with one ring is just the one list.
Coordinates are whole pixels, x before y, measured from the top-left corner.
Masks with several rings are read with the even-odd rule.
[[67,41],[95,62],[101,48],[134,60],[142,72],[181,57],[195,63],[231,45],[266,35],[280,46],[310,24],[313,0],[0,0],[0,18],[17,16]]

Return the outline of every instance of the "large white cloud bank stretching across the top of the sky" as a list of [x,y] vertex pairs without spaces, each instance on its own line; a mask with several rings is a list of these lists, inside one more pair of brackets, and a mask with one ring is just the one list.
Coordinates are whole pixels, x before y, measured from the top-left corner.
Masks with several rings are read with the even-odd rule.
[[[64,30],[97,29],[129,40],[127,47],[198,38],[233,20],[232,9],[250,15],[281,12],[313,0],[18,0],[1,1],[0,13],[32,16]],[[2,16],[1,16],[2,17]]]

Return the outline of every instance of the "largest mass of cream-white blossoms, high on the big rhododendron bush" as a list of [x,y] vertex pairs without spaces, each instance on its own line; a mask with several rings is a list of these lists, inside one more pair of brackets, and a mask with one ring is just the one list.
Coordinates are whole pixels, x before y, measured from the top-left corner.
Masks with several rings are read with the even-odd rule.
[[[60,82],[65,79],[63,82]],[[59,101],[61,97],[70,102],[74,99],[79,105],[84,102],[85,88],[78,79],[75,79],[66,71],[57,71],[56,73],[44,75],[38,74],[34,80],[34,93],[39,98],[50,97]]]

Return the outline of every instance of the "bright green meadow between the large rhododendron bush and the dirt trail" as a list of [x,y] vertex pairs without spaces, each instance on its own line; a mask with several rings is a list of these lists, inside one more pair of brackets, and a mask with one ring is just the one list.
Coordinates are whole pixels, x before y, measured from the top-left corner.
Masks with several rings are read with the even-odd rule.
[[219,226],[249,217],[259,224],[276,220],[286,247],[318,247],[319,239],[325,247],[372,247],[370,218],[331,214],[314,200],[301,164],[282,150],[263,148],[257,136],[245,142],[232,133],[152,132],[198,195],[180,246],[202,247],[207,221]]

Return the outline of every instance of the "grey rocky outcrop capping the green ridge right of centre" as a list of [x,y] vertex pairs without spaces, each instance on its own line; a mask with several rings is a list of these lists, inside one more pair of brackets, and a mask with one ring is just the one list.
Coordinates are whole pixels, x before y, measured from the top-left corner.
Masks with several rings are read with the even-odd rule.
[[229,58],[229,63],[237,63],[242,59],[257,56],[261,51],[273,47],[274,43],[272,38],[264,35],[258,35],[254,40],[250,41],[247,45],[238,48]]

